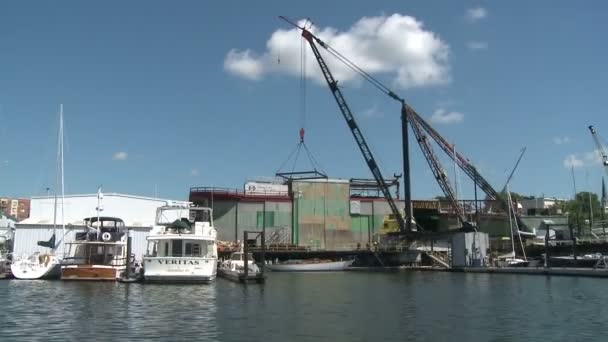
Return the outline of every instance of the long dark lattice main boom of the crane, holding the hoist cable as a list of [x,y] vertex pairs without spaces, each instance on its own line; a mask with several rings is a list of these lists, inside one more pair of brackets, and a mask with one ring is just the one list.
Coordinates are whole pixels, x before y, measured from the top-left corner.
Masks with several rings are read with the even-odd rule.
[[336,100],[338,107],[340,107],[340,111],[342,112],[342,115],[344,116],[344,119],[346,120],[346,123],[348,124],[348,128],[350,129],[351,133],[353,134],[353,137],[355,138],[355,141],[357,142],[357,145],[359,146],[359,149],[361,150],[361,153],[363,154],[363,158],[365,158],[365,162],[367,163],[369,170],[371,171],[372,175],[374,176],[374,179],[378,183],[378,186],[380,187],[380,190],[382,191],[384,198],[388,202],[388,205],[390,206],[391,211],[392,211],[393,215],[395,216],[395,219],[397,220],[397,223],[399,225],[399,231],[402,233],[405,232],[407,230],[405,220],[403,219],[403,216],[401,215],[399,208],[397,208],[397,204],[393,200],[393,197],[388,189],[388,185],[386,185],[386,182],[384,181],[384,177],[382,176],[382,173],[380,172],[378,163],[374,159],[374,156],[373,156],[369,146],[367,145],[365,138],[363,137],[363,133],[361,133],[361,130],[359,129],[359,125],[357,125],[357,122],[355,121],[355,117],[353,116],[353,113],[351,112],[350,108],[348,107],[348,103],[346,102],[346,100],[344,99],[344,96],[342,95],[342,91],[340,90],[340,88],[338,88],[338,82],[334,79],[331,71],[329,70],[329,68],[327,66],[327,63],[325,63],[323,56],[321,56],[321,53],[319,52],[319,49],[317,48],[315,41],[321,46],[324,46],[325,43],[322,40],[320,40],[319,38],[315,37],[306,28],[300,27],[300,29],[302,30],[302,37],[304,37],[304,39],[306,39],[306,41],[310,45],[310,48],[312,49],[313,54],[315,55],[317,63],[319,64],[319,67],[321,68],[321,72],[323,73],[323,77],[325,77],[325,81],[327,81],[329,90],[331,91],[331,94],[334,96],[334,99]]

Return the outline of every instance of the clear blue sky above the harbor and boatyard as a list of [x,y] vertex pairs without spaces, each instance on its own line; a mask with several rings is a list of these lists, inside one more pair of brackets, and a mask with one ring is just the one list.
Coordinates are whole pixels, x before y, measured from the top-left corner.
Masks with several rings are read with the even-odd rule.
[[[309,17],[342,38],[361,37],[351,35],[352,27],[364,17],[415,19],[410,33],[422,35],[397,30],[388,38],[407,45],[408,37],[423,37],[423,53],[414,47],[400,59],[391,55],[399,50],[394,45],[384,45],[386,53],[368,51],[386,62],[376,75],[423,117],[443,114],[434,126],[495,187],[527,146],[513,191],[571,196],[566,160],[576,167],[578,190],[599,191],[602,170],[587,126],[608,137],[607,7],[601,1],[6,2],[0,194],[32,196],[54,187],[60,103],[68,193],[92,193],[102,184],[105,191],[154,195],[156,188],[159,196],[181,199],[190,186],[242,187],[248,176],[273,175],[297,144],[302,121],[299,76],[281,69],[299,65],[289,56],[299,58],[300,38],[294,34],[289,43],[296,50],[273,50],[273,32],[289,29],[277,15]],[[377,43],[373,34],[365,37]],[[351,53],[361,45],[355,39]],[[230,51],[237,57],[249,51],[262,69],[248,76],[247,65],[231,69]],[[399,82],[397,73],[408,67],[413,76]],[[431,77],[415,81],[425,67]],[[307,68],[308,147],[332,177],[370,177],[315,74]],[[401,172],[399,106],[356,79],[345,80],[343,91],[384,174]],[[411,150],[414,196],[440,195],[418,146]],[[305,160],[301,168],[308,168]],[[472,193],[462,173],[461,188]]]

